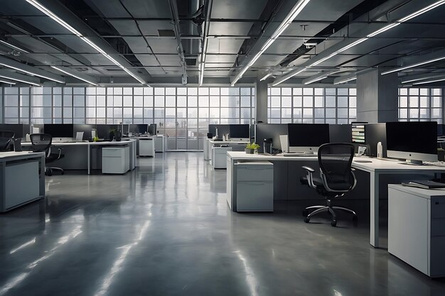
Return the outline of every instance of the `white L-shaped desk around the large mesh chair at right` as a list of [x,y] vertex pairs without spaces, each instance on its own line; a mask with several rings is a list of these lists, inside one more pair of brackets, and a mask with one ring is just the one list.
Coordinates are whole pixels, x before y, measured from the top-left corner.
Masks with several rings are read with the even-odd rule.
[[[232,173],[234,165],[240,160],[269,160],[269,161],[318,161],[317,156],[282,156],[282,155],[258,155],[243,152],[227,152],[227,198],[232,199],[236,176]],[[382,175],[414,174],[422,172],[445,172],[445,167],[434,165],[406,165],[397,160],[382,160],[377,158],[354,158],[354,160],[369,160],[370,163],[358,163],[353,161],[353,168],[363,170],[370,174],[370,244],[379,247],[379,198],[380,177]],[[385,185],[386,187],[386,185]],[[232,201],[233,203],[233,201]],[[236,202],[235,202],[236,209]]]

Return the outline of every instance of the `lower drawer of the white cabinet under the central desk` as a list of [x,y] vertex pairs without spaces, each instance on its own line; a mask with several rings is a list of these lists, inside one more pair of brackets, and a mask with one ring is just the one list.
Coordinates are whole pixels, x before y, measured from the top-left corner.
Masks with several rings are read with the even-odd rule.
[[273,182],[237,182],[237,212],[272,212]]

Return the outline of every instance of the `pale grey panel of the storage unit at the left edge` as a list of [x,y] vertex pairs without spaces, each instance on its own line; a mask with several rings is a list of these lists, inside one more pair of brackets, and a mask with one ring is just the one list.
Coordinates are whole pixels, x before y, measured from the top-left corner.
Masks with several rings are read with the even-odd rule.
[[[25,180],[26,182],[24,182]],[[0,212],[6,212],[21,204],[31,202],[38,199],[40,195],[38,160],[6,163],[4,168],[4,200],[0,201]]]

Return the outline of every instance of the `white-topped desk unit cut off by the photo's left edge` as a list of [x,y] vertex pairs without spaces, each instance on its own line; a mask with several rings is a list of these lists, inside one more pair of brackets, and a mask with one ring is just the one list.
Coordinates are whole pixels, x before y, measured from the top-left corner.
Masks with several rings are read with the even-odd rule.
[[[40,166],[40,171],[36,170],[28,171],[26,163],[29,160],[38,161],[38,165]],[[20,164],[23,164],[23,168],[26,172],[21,174],[21,171],[16,171],[16,174],[13,176],[9,174],[10,172],[7,170],[8,165],[16,165],[16,169],[20,169]],[[34,165],[33,168],[37,168],[38,165]],[[18,175],[17,175],[18,174]],[[38,175],[34,175],[38,174]],[[18,184],[26,184],[23,183],[25,180],[22,178],[26,178],[26,176],[31,176],[34,180],[38,179],[38,190],[34,192],[33,190],[26,190],[28,188],[23,188],[22,194],[16,194],[14,192],[16,190],[16,184],[11,184],[6,180],[11,178],[13,183],[17,181]],[[6,184],[8,183],[8,184]],[[9,192],[9,193],[8,193]],[[12,194],[10,192],[13,192]],[[18,196],[23,195],[25,193],[26,196]],[[0,153],[0,212],[6,212],[10,209],[14,209],[16,207],[20,207],[23,204],[28,202],[33,202],[36,199],[41,199],[45,197],[45,153],[30,153],[30,152],[1,152]]]

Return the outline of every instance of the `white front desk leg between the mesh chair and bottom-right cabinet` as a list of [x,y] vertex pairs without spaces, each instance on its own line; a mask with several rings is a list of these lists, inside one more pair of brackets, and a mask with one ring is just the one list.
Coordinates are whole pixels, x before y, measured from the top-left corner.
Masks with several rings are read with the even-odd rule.
[[370,244],[379,247],[379,183],[380,176],[370,172]]

